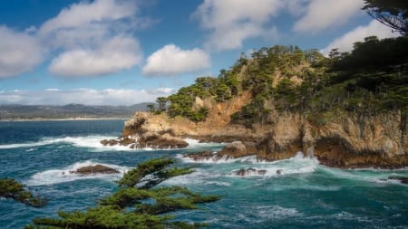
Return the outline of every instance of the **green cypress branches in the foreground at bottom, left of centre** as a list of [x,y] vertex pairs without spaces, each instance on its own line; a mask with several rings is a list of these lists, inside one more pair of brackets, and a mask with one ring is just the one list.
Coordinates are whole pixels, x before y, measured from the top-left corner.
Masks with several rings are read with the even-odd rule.
[[142,162],[119,181],[121,187],[86,211],[59,212],[59,218],[37,218],[25,228],[199,228],[206,224],[174,221],[170,212],[198,209],[199,204],[219,200],[201,196],[180,186],[160,186],[165,179],[193,172],[189,167],[170,167],[175,159],[160,157]]

